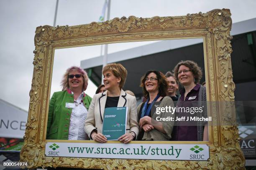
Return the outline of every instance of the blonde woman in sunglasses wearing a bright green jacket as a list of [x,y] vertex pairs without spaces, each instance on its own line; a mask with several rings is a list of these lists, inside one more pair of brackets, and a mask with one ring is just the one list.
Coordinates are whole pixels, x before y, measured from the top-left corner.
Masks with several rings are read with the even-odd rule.
[[54,92],[49,103],[46,139],[88,140],[84,121],[92,98],[84,93],[87,73],[70,67],[61,81],[62,91]]

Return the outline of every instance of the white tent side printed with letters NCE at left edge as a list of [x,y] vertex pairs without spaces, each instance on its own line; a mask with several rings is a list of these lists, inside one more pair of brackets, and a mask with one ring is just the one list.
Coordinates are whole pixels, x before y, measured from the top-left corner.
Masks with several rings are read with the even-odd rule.
[[28,111],[0,99],[0,137],[23,138]]

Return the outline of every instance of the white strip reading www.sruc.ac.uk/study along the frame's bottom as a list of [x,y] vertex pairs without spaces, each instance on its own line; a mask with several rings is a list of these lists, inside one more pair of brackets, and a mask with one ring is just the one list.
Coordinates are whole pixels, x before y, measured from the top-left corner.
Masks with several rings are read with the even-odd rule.
[[207,160],[202,144],[46,143],[46,156],[144,160]]

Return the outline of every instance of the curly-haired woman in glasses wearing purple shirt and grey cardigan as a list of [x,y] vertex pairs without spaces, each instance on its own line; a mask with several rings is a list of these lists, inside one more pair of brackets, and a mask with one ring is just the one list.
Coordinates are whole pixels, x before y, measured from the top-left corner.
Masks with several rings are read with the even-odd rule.
[[[181,61],[174,67],[174,75],[184,88],[180,90],[177,107],[202,107],[202,112],[179,112],[177,117],[197,116],[207,117],[206,90],[199,84],[202,78],[201,68],[194,61]],[[208,140],[207,122],[176,122],[174,128],[174,140],[178,141],[202,141]]]

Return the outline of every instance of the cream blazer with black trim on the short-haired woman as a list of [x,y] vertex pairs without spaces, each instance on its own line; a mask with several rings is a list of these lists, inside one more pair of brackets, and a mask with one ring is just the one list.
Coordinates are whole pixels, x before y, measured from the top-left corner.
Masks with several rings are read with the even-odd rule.
[[[92,130],[102,133],[102,123],[105,104],[108,96],[108,90],[93,96],[90,104],[87,118],[85,120],[84,130],[91,137]],[[137,121],[137,104],[136,97],[127,94],[121,89],[117,107],[127,107],[126,133],[134,132],[138,136],[139,128]]]

